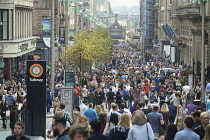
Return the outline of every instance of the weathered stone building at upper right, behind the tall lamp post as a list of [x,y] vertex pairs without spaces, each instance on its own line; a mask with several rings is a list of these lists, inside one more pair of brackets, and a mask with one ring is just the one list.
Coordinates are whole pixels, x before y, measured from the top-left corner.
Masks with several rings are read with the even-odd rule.
[[[210,63],[210,32],[208,20],[210,19],[210,3],[207,2],[205,22],[205,54],[206,66]],[[202,12],[200,1],[172,0],[172,28],[176,31],[177,48],[180,50],[180,61],[193,65],[201,61],[201,27]],[[202,62],[201,62],[202,63]]]

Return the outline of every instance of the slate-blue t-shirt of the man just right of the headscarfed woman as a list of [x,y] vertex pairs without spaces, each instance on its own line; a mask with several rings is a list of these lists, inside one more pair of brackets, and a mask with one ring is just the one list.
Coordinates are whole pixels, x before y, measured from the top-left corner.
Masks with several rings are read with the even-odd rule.
[[160,132],[160,120],[163,120],[163,115],[158,112],[151,112],[147,116],[147,122],[152,126],[154,133]]

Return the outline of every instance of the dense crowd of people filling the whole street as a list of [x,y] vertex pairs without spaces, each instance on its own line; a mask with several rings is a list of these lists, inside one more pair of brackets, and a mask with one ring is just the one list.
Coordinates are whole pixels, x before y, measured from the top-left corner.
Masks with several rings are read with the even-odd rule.
[[[181,82],[186,65],[172,63],[163,54],[147,53],[145,61],[135,49],[116,45],[107,64],[82,80],[75,76],[71,116],[60,103],[62,80],[54,98],[47,87],[47,112],[55,116],[47,137],[57,140],[209,140],[210,81],[204,102],[201,86]],[[177,70],[171,73],[164,68]],[[59,76],[59,75],[58,75]],[[82,81],[82,82],[80,82]],[[9,101],[4,95],[3,99]],[[53,99],[53,100],[52,100]],[[53,101],[53,102],[52,102]],[[15,108],[18,104],[10,104]],[[15,125],[14,125],[15,126]]]

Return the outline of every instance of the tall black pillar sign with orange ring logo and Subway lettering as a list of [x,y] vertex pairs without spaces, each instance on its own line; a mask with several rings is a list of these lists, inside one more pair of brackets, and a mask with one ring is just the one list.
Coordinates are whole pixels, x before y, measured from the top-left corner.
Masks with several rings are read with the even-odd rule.
[[27,61],[27,109],[31,136],[46,137],[46,61]]

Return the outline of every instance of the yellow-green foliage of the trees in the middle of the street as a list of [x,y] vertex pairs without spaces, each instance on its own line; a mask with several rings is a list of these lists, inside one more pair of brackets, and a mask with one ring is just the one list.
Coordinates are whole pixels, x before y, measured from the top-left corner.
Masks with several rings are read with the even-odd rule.
[[92,64],[107,61],[112,53],[113,40],[107,30],[81,31],[74,37],[74,45],[66,49],[66,59],[73,67],[85,70]]

